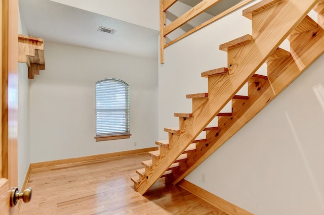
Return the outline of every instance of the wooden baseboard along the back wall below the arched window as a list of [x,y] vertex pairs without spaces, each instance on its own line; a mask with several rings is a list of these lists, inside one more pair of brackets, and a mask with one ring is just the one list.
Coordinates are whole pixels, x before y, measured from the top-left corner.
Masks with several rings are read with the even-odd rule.
[[96,155],[84,156],[84,157],[52,160],[49,162],[40,162],[40,163],[30,164],[30,168],[32,171],[35,171],[36,169],[44,169],[44,168],[46,169],[49,167],[56,167],[56,166],[69,167],[69,166],[80,165],[81,163],[92,162],[95,160],[103,160],[103,159],[108,159],[111,157],[143,153],[143,152],[153,151],[153,150],[157,150],[157,149],[158,149],[158,147],[141,148],[141,149],[135,149],[135,150],[130,150],[130,151],[120,151],[120,152],[113,152],[113,153],[107,153],[107,154],[96,154]]

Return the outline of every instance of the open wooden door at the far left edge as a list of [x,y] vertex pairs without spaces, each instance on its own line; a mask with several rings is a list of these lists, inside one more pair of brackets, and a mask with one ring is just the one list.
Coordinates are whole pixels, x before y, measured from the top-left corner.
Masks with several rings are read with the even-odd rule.
[[17,131],[18,131],[18,0],[0,0],[0,213],[17,214],[10,207],[10,187],[18,186]]

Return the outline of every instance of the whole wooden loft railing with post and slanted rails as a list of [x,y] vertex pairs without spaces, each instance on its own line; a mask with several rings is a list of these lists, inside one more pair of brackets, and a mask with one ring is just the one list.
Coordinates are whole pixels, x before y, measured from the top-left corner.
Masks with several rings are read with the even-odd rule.
[[166,11],[177,1],[178,0],[160,0],[160,63],[161,64],[164,64],[164,49],[166,47],[255,0],[243,0],[240,3],[229,8],[228,10],[213,17],[212,19],[194,27],[193,29],[184,33],[183,35],[166,43],[166,36],[168,34],[173,32],[177,28],[181,27],[182,25],[186,24],[187,22],[189,22],[199,14],[204,13],[208,9],[216,6],[222,0],[203,0],[200,3],[198,3],[196,6],[194,6],[192,9],[190,9],[189,11],[185,12],[183,15],[178,17],[175,21],[173,21],[169,25],[166,25]]

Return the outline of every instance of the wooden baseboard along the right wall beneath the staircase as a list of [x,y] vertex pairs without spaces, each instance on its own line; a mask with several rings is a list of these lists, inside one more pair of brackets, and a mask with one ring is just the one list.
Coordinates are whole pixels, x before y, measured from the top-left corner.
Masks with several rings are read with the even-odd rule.
[[189,191],[190,193],[198,196],[201,199],[204,199],[208,203],[214,205],[220,210],[226,212],[229,215],[252,215],[253,213],[232,204],[225,199],[222,199],[213,193],[210,193],[186,180],[182,180],[179,184],[179,187]]

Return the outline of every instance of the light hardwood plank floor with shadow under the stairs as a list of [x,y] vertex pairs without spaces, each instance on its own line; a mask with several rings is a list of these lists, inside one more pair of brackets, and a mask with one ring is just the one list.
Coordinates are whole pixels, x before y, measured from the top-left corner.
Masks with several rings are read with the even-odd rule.
[[19,214],[225,214],[178,186],[165,185],[165,179],[144,196],[134,191],[130,177],[149,158],[139,153],[32,170],[32,200]]

